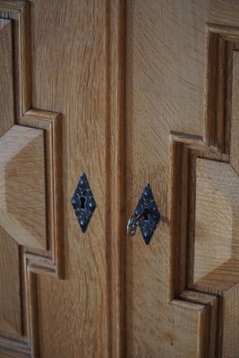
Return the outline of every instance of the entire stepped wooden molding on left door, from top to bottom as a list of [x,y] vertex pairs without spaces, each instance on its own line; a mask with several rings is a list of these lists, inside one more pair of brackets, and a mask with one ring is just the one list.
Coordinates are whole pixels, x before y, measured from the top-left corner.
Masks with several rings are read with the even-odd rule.
[[[0,135],[4,140],[6,135],[12,135],[18,128],[22,128],[22,131],[23,128],[35,128],[43,133],[44,147],[39,150],[45,163],[46,207],[46,238],[43,237],[45,243],[42,247],[36,248],[35,245],[33,248],[29,240],[27,245],[20,246],[21,336],[13,337],[6,332],[0,332],[0,353],[16,357],[37,357],[38,304],[35,274],[64,278],[62,124],[60,114],[31,108],[30,3],[0,0],[0,18],[11,23],[14,54],[14,118],[10,118],[4,125]],[[25,196],[24,203],[27,206],[27,192]],[[24,195],[21,197],[24,200]],[[21,243],[18,240],[16,242]]]

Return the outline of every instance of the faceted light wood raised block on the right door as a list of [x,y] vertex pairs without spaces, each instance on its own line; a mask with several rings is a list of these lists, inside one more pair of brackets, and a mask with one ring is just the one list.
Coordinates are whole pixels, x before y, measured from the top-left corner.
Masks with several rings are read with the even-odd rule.
[[[235,283],[239,266],[238,195],[239,178],[229,164],[197,159],[193,279],[199,285],[204,277],[209,282],[211,273],[216,278],[217,268],[220,289],[223,282],[226,287]],[[235,267],[234,272],[229,267]],[[230,279],[230,274],[234,278]]]

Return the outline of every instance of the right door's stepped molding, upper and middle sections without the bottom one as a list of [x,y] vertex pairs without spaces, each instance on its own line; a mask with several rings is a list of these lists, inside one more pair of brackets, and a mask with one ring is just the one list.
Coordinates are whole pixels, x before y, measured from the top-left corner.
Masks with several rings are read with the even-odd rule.
[[[204,140],[171,132],[170,289],[173,299],[192,287],[196,158],[230,162],[232,56],[239,29],[209,24]],[[218,63],[216,59],[218,60]],[[215,66],[216,61],[216,66]]]

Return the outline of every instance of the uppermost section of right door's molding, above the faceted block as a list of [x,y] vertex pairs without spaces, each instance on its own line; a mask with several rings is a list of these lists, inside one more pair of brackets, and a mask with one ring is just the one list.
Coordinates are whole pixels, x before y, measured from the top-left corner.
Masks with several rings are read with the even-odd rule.
[[[233,43],[239,42],[239,27],[206,25],[207,68],[205,74],[204,134],[209,147],[230,151],[231,68]],[[231,64],[229,64],[231,66]],[[225,135],[226,133],[226,135]]]

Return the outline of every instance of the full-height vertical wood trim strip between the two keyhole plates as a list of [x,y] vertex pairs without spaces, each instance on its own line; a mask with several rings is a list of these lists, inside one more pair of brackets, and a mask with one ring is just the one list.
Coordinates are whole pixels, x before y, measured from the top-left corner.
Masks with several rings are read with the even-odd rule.
[[[109,0],[107,21],[107,331],[108,357],[125,356],[124,300],[124,41],[125,2]],[[110,172],[108,168],[110,169]],[[110,220],[108,219],[110,217]]]

